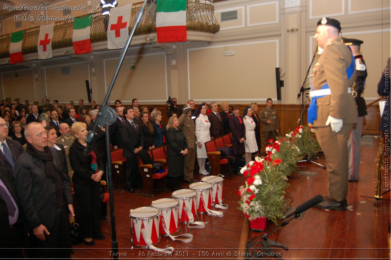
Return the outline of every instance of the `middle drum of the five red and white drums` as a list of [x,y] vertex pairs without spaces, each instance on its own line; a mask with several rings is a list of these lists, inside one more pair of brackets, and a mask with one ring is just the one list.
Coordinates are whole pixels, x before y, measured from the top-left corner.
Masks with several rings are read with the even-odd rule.
[[188,223],[197,219],[197,192],[189,189],[176,190],[172,192],[172,197],[179,201],[179,222]]

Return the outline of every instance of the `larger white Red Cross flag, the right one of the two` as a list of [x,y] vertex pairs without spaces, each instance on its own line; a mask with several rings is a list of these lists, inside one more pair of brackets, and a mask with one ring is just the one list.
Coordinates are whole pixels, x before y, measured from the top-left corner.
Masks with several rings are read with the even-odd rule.
[[107,28],[107,48],[123,48],[129,38],[129,20],[132,5],[124,5],[110,9],[109,26]]

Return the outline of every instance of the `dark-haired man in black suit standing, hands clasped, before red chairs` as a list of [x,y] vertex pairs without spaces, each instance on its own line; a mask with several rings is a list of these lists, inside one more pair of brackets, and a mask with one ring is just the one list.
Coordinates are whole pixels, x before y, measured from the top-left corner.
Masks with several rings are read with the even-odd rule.
[[136,154],[143,149],[144,138],[141,127],[135,120],[133,108],[127,106],[124,109],[126,120],[120,125],[120,133],[124,142],[124,157],[126,157],[126,186],[131,193],[136,193],[133,186],[141,179],[137,174]]

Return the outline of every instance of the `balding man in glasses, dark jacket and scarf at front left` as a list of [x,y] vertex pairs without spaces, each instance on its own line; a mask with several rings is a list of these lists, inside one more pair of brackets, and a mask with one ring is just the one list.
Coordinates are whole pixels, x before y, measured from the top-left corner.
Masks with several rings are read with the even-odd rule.
[[25,129],[26,152],[16,161],[14,177],[30,230],[30,255],[70,258],[70,226],[74,217],[71,183],[47,131],[37,122]]

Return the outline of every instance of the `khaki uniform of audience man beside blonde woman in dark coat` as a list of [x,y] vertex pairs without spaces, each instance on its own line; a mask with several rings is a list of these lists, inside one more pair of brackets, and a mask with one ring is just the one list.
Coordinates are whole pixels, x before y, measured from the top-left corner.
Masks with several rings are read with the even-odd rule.
[[196,141],[195,141],[195,124],[191,117],[186,117],[183,113],[179,119],[179,126],[187,139],[187,154],[185,155],[185,169],[183,172],[183,179],[190,181],[194,178],[194,163],[196,153]]

